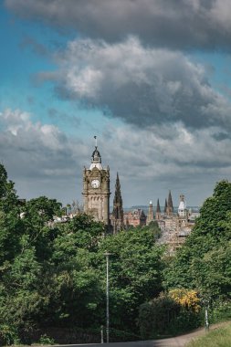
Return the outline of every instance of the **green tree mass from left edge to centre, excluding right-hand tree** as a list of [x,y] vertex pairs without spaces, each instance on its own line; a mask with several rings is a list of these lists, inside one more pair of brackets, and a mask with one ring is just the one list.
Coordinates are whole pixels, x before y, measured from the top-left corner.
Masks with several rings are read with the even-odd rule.
[[44,326],[99,329],[105,324],[106,251],[111,326],[137,331],[139,305],[162,289],[158,227],[113,237],[84,214],[57,223],[62,206],[56,200],[41,196],[22,204],[3,166],[0,180],[0,331],[8,329],[14,342]]

